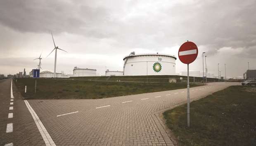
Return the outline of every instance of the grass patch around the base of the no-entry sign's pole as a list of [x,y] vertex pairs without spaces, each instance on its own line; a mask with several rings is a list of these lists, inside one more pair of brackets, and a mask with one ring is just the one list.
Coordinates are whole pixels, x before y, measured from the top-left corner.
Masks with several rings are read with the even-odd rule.
[[231,86],[164,112],[180,146],[256,146],[256,86]]

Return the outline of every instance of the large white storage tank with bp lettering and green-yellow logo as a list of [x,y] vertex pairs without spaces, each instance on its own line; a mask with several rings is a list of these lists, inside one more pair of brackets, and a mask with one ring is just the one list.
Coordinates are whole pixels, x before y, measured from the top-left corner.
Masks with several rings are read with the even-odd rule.
[[149,53],[135,55],[135,52],[132,52],[129,56],[123,58],[123,75],[175,75],[176,59],[175,56],[168,54]]

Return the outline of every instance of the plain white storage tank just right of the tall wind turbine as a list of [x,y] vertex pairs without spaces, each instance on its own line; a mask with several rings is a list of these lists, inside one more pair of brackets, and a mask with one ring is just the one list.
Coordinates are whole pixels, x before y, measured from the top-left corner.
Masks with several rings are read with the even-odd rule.
[[73,76],[97,76],[96,70],[74,67]]

